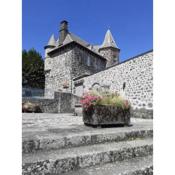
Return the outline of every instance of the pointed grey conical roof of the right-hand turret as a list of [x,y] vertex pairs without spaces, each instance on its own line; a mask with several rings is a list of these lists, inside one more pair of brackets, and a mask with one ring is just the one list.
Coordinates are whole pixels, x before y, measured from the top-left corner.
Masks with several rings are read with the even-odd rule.
[[103,44],[101,45],[101,48],[104,48],[104,47],[118,48],[116,43],[115,43],[115,41],[114,41],[112,33],[111,33],[111,31],[109,29],[107,30],[107,32],[105,34],[105,38],[104,38]]

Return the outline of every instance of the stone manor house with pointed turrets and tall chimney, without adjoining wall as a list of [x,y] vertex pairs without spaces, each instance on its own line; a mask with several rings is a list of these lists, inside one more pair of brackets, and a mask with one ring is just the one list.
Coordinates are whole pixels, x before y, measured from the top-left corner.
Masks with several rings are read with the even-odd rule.
[[119,63],[120,49],[108,30],[101,45],[92,45],[60,23],[59,38],[51,36],[45,46],[46,96],[53,91],[72,92],[74,78],[87,76]]

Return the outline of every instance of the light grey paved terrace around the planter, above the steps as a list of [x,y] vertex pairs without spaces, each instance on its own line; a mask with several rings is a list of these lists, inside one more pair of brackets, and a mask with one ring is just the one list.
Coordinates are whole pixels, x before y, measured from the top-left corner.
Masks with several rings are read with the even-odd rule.
[[96,134],[134,130],[152,129],[151,119],[131,119],[130,127],[91,128],[83,124],[82,117],[73,114],[23,113],[22,136],[23,141],[37,137],[66,137],[80,134]]

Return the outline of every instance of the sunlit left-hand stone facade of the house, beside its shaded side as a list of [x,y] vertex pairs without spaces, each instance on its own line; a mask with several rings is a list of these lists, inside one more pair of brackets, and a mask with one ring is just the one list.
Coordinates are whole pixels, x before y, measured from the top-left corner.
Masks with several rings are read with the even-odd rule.
[[[54,92],[71,91],[71,61],[73,50],[64,48],[45,59],[45,97],[53,98]],[[63,87],[65,86],[65,87]]]

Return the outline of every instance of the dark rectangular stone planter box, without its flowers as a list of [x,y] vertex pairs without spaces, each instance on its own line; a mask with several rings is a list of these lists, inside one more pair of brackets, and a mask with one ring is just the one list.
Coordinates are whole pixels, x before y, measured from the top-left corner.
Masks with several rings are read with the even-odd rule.
[[83,122],[90,126],[130,125],[130,109],[123,110],[115,106],[92,106],[83,109]]

